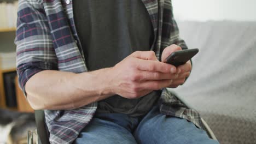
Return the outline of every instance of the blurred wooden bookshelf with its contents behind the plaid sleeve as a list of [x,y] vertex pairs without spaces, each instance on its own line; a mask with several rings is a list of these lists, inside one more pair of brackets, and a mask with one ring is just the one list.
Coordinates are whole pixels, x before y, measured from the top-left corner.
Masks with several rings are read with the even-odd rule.
[[[17,8],[18,0],[0,0],[0,108],[33,112],[19,88],[15,61],[12,61],[12,58],[15,58],[16,55],[14,39]],[[13,53],[14,55],[6,55],[6,53]],[[15,101],[16,103],[10,103],[10,101]]]

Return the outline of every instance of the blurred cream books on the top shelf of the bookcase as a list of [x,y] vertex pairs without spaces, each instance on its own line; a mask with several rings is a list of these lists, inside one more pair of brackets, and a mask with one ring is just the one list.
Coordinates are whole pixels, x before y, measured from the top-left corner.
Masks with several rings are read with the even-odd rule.
[[18,1],[14,3],[0,3],[0,28],[16,27],[18,13]]

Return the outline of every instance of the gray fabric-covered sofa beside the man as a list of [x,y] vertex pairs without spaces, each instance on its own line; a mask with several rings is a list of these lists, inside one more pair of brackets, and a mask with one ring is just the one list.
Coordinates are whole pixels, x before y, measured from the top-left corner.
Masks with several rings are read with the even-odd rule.
[[256,22],[179,21],[199,48],[183,86],[171,89],[198,110],[220,143],[256,143]]

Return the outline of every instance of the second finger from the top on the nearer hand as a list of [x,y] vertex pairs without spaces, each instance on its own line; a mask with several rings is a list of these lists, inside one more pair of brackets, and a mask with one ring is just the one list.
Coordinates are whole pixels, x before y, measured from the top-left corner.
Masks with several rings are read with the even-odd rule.
[[[186,76],[188,74],[181,74],[181,77]],[[145,81],[145,80],[171,80],[177,79],[178,74],[170,74],[170,73],[161,73],[161,72],[152,72],[152,71],[144,71],[140,70],[138,75],[135,77],[135,81]]]

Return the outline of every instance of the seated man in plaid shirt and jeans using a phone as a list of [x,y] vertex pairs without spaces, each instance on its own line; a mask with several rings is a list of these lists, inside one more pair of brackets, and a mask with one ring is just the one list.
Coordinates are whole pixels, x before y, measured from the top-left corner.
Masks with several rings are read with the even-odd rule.
[[166,89],[191,70],[161,62],[187,49],[171,1],[21,0],[15,41],[51,143],[218,143]]

